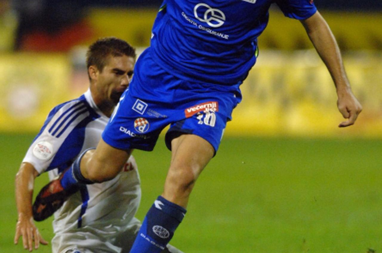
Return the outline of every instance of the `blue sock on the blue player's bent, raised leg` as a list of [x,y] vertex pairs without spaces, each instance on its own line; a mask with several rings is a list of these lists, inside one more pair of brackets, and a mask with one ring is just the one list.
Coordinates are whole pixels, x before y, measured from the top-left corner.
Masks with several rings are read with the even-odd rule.
[[80,184],[93,184],[89,179],[84,178],[81,174],[80,163],[83,155],[90,149],[86,149],[79,157],[74,161],[69,170],[64,172],[63,177],[61,178],[61,185],[66,190],[72,190],[78,188]]

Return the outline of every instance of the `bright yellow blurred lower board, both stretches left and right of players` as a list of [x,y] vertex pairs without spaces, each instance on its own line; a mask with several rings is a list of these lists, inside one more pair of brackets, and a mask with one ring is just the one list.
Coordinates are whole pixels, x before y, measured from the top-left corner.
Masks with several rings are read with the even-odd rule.
[[[225,135],[382,136],[382,53],[344,56],[363,105],[356,124],[339,129],[335,87],[314,50],[260,52],[241,85],[242,102]],[[88,86],[61,54],[0,56],[0,131],[37,132],[49,111]]]

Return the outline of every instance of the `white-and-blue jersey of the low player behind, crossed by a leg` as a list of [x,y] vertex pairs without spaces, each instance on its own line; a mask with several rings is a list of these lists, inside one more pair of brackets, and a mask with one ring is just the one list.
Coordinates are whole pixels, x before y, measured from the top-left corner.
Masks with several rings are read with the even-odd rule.
[[[39,174],[49,171],[52,179],[84,150],[97,146],[108,120],[88,90],[78,99],[52,109],[23,162],[31,163]],[[70,234],[80,227],[92,227],[100,234],[115,234],[136,224],[134,215],[140,199],[137,165],[130,157],[116,178],[87,185],[72,195],[55,213],[54,232]]]

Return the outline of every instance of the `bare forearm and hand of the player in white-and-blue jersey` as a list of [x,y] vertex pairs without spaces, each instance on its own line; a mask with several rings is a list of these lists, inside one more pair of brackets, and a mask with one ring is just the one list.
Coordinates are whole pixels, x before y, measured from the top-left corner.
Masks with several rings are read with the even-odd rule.
[[18,221],[16,224],[15,244],[18,243],[20,237],[23,237],[24,249],[32,251],[33,241],[34,248],[38,249],[39,244],[47,245],[37,227],[34,225],[32,218],[32,195],[34,187],[34,179],[38,172],[31,163],[22,163],[18,173],[16,174],[16,205],[18,211]]

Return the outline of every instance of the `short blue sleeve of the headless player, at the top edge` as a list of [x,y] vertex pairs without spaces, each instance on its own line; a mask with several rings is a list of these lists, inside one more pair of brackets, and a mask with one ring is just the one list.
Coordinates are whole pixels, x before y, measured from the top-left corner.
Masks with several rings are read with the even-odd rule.
[[313,0],[276,0],[276,4],[288,18],[307,19],[316,13]]

